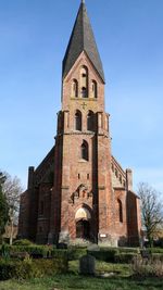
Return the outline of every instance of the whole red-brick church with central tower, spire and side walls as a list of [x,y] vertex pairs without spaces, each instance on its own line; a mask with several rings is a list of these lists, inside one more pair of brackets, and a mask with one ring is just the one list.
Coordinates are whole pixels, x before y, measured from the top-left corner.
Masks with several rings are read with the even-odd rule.
[[104,73],[82,1],[63,59],[54,147],[21,196],[18,236],[37,243],[139,243],[139,198],[131,171],[111,153]]

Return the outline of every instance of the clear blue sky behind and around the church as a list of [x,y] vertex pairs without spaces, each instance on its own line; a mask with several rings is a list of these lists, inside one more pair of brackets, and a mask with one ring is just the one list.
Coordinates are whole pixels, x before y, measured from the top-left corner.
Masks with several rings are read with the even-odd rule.
[[[0,0],[0,168],[24,187],[52,148],[80,0]],[[163,0],[86,0],[105,73],[112,153],[163,192]]]

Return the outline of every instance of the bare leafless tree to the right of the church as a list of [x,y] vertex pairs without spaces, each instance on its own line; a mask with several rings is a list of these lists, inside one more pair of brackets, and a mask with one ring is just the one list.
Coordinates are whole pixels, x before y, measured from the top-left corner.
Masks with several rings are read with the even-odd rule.
[[148,184],[139,184],[138,194],[141,200],[142,225],[146,228],[149,244],[152,247],[153,238],[162,227],[163,203],[156,190]]

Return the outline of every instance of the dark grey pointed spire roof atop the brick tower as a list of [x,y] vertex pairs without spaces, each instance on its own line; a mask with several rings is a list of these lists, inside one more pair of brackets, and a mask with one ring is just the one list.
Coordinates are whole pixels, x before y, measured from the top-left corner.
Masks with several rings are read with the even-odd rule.
[[104,81],[104,73],[102,68],[101,59],[98,52],[96,40],[93,37],[92,28],[87,15],[85,2],[82,1],[74,28],[70,38],[70,42],[63,60],[62,77],[64,78],[79,54],[85,51]]

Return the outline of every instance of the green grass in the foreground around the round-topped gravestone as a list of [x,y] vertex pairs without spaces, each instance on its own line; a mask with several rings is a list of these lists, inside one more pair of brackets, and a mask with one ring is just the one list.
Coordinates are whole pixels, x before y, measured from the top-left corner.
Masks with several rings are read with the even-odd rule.
[[55,275],[26,281],[8,280],[0,282],[0,290],[163,290],[163,280],[158,278],[136,280],[129,278],[128,265],[97,262],[97,274],[116,272],[109,278],[84,277],[78,275],[78,263],[70,262],[66,275]]

